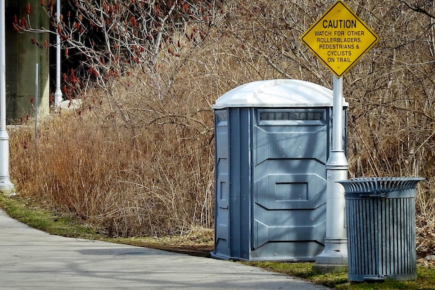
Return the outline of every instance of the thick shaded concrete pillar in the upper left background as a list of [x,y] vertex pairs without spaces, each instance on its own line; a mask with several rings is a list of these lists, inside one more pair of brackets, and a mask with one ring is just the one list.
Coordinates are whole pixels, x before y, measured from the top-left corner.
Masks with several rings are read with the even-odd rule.
[[[40,0],[6,0],[6,119],[19,123],[20,119],[35,116],[35,65],[39,66],[38,116],[49,114],[49,33],[17,33],[13,29],[14,17],[18,22],[27,17],[27,4],[31,5],[29,19],[32,28],[49,28],[49,19],[40,6]],[[32,39],[42,48],[32,44]],[[33,102],[32,102],[33,100]]]

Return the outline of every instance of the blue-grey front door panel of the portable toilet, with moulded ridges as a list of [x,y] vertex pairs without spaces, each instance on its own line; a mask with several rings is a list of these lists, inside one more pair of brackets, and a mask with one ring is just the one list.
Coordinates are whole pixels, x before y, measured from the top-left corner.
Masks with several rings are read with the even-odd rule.
[[259,109],[255,117],[252,255],[315,257],[325,239],[329,110]]

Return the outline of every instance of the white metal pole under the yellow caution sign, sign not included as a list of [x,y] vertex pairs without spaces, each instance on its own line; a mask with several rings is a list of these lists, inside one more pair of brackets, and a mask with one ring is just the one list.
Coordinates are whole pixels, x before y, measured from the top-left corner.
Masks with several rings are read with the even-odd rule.
[[334,271],[336,266],[347,266],[345,190],[343,185],[337,183],[340,180],[347,180],[347,171],[349,169],[343,148],[343,132],[343,78],[334,76],[332,148],[326,164],[327,221],[325,249],[315,259],[315,265],[324,265],[323,271],[325,272]]

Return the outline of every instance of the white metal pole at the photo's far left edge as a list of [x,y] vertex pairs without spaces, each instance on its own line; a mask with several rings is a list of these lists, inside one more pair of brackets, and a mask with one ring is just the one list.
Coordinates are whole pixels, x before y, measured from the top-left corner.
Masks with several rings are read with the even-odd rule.
[[9,135],[6,130],[6,0],[0,0],[0,191],[15,188],[9,176]]

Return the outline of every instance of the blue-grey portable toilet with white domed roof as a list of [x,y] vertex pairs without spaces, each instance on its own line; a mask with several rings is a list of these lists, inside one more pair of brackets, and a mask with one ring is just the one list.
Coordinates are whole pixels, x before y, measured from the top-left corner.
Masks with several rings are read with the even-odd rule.
[[217,99],[213,257],[313,261],[322,252],[332,99],[303,80],[256,81]]

